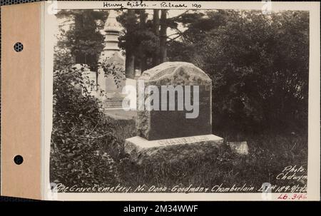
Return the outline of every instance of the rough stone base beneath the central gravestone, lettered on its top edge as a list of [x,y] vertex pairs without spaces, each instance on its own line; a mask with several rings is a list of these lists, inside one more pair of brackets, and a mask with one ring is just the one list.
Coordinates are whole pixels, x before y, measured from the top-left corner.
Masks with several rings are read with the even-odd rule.
[[193,155],[199,157],[221,144],[223,138],[213,134],[164,140],[146,140],[136,136],[126,139],[124,150],[133,163],[141,165],[144,160],[158,161],[161,158],[170,163],[174,160],[193,158]]

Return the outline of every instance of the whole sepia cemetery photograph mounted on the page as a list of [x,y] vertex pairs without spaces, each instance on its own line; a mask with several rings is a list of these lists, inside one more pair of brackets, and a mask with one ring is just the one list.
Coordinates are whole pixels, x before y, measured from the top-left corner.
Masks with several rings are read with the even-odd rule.
[[51,192],[308,198],[310,11],[202,4],[55,11]]

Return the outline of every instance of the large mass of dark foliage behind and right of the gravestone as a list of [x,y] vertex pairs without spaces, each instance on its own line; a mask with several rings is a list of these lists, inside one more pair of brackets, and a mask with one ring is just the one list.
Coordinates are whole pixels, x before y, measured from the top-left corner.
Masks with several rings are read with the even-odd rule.
[[170,60],[213,80],[213,123],[243,132],[307,129],[309,18],[304,11],[209,11],[180,18]]

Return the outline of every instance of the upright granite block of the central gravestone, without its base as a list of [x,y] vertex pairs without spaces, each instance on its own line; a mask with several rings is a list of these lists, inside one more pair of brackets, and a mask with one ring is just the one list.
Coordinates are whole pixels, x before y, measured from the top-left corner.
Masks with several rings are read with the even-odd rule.
[[[159,108],[158,110],[139,110],[138,108],[136,122],[138,135],[147,140],[161,140],[212,133],[212,81],[200,68],[192,63],[167,62],[145,71],[139,80],[144,82],[145,89],[149,86],[157,86]],[[170,88],[164,90],[165,86],[173,86],[176,91],[170,93],[167,91]],[[170,94],[173,94],[175,101],[170,101]],[[194,95],[197,98],[193,98]],[[145,94],[145,101],[149,96],[150,94]],[[183,109],[178,108],[179,102],[183,102]],[[191,105],[195,108],[193,110],[195,116],[187,118],[186,114],[192,113],[192,110],[187,110],[186,106]],[[170,106],[173,106],[172,110]]]

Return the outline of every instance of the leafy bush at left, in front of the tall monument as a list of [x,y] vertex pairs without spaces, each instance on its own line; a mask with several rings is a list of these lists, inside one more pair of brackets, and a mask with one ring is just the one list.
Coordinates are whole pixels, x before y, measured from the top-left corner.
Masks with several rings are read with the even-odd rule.
[[54,72],[54,125],[51,135],[51,182],[66,186],[107,185],[116,180],[106,146],[117,146],[111,125],[90,95],[87,66]]

